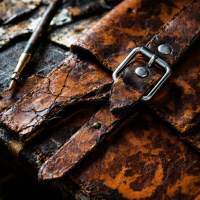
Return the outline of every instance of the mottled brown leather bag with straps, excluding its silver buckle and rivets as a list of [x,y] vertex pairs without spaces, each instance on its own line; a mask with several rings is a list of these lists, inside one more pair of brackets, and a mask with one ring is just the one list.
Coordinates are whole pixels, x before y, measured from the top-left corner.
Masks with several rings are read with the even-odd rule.
[[[18,133],[23,140],[30,140],[40,132],[44,121],[61,108],[104,98],[112,84],[109,71],[114,71],[133,48],[147,44],[148,49],[173,67],[164,88],[151,102],[144,103],[140,99],[158,82],[163,72],[153,66],[147,77],[138,77],[135,69],[146,67],[148,60],[136,57],[112,85],[110,103],[105,103],[42,166],[41,180],[63,177],[103,138],[113,133],[84,161],[83,169],[79,167],[77,174],[71,173],[72,179],[85,188],[85,193],[92,183],[100,186],[89,195],[100,195],[101,199],[115,194],[118,199],[175,199],[174,191],[180,193],[179,187],[185,188],[181,194],[187,198],[197,197],[198,154],[187,152],[188,146],[175,136],[175,133],[179,134],[198,149],[200,3],[192,1],[179,11],[188,3],[159,1],[149,6],[149,1],[122,2],[79,38],[71,47],[72,56],[3,114],[4,126]],[[169,44],[172,52],[160,54],[157,50],[160,44]],[[177,63],[183,54],[184,58]],[[149,109],[173,128],[152,116]],[[122,129],[113,132],[127,117],[131,119]],[[101,152],[103,149],[106,151]],[[176,167],[180,171],[174,169]],[[186,189],[189,183],[194,186]],[[166,196],[159,193],[159,186],[166,189]]]

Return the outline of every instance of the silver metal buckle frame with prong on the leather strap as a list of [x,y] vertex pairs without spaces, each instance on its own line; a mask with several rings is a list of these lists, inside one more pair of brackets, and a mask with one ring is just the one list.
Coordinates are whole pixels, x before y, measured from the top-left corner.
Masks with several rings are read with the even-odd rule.
[[150,100],[154,94],[160,89],[160,87],[163,85],[163,83],[167,80],[169,75],[171,74],[171,68],[170,65],[158,57],[156,54],[154,54],[151,50],[147,49],[146,47],[136,47],[131,51],[131,53],[123,60],[123,62],[119,65],[119,67],[113,72],[112,78],[115,81],[117,79],[117,74],[130,62],[130,60],[137,54],[141,53],[142,55],[146,56],[150,59],[149,63],[147,64],[147,67],[151,67],[153,62],[158,64],[160,67],[165,69],[165,74],[162,76],[162,78],[158,81],[158,83],[154,86],[154,88],[149,92],[148,95],[143,96],[141,99],[143,101]]

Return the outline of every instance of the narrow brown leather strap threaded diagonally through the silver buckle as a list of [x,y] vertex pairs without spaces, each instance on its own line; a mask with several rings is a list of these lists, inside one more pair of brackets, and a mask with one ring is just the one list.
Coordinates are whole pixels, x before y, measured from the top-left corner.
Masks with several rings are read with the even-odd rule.
[[[161,29],[161,31],[155,37],[153,37],[153,39],[147,44],[147,47],[152,51],[157,52],[158,45],[166,43],[167,41],[168,44],[170,44],[173,48],[173,51],[170,55],[166,57],[162,55],[160,56],[162,58],[165,58],[165,60],[167,60],[168,63],[174,66],[178,59],[180,59],[183,53],[188,49],[188,44],[194,42],[194,40],[199,35],[199,6],[200,4],[198,3],[198,1],[193,1],[183,10],[181,10],[181,12],[179,12],[175,17],[173,17],[172,20],[170,20]],[[189,17],[190,12],[192,12],[193,17]],[[189,25],[187,26],[188,20]],[[191,26],[191,23],[193,23],[193,25],[195,24],[195,26]],[[183,34],[182,38],[181,33],[183,30],[185,30],[185,33]],[[119,98],[117,99],[116,97],[117,89],[118,91],[120,90],[122,94],[124,94],[125,98],[127,97],[127,100],[124,102],[132,103],[132,99],[129,100],[130,95],[127,96],[127,94],[131,94],[131,92],[133,92],[133,89],[131,91],[131,89],[128,90],[126,89],[126,87],[133,87],[133,83],[131,82],[131,75],[134,73],[134,67],[137,67],[138,64],[140,64],[139,66],[146,66],[146,62],[143,58],[141,60],[137,58],[137,62],[134,62],[134,64],[130,68],[127,68],[125,72],[122,73],[118,81],[114,84],[111,98],[112,110],[124,107],[124,104],[122,104],[123,101],[121,101],[121,99]],[[126,77],[124,76],[124,74],[126,75]],[[134,96],[138,96],[136,98],[136,101],[138,101],[141,98],[141,96],[145,93],[145,91],[147,90],[146,87],[150,87],[155,82],[155,80],[157,81],[157,79],[160,78],[159,76],[161,76],[161,70],[155,67],[151,69],[148,78],[140,78],[139,83],[137,82],[137,84],[134,85],[135,88],[137,88],[136,86],[140,87],[140,84],[142,84],[139,92],[134,93]],[[138,77],[136,78],[138,79]],[[121,84],[121,88],[119,83],[123,83]],[[125,85],[124,83],[128,84]],[[121,93],[118,92],[118,96],[121,96]],[[119,102],[117,102],[117,100],[113,103],[113,94],[115,94],[115,99],[119,100],[122,106]],[[117,105],[117,107],[114,106],[115,104]],[[129,111],[130,110],[122,110],[120,111],[120,113],[114,115],[109,111],[108,104],[104,105],[104,107],[102,107],[99,110],[99,112],[96,115],[94,115],[56,154],[54,154],[48,161],[45,162],[45,164],[43,164],[39,172],[39,179],[59,179],[63,175],[68,173],[86,155],[88,155],[92,151],[92,149],[94,149],[105,138],[105,136],[108,136],[109,133],[116,126],[119,125],[119,122],[121,122],[122,119],[125,118]],[[92,128],[92,124],[94,123],[100,123],[101,127],[98,130],[94,130]]]

